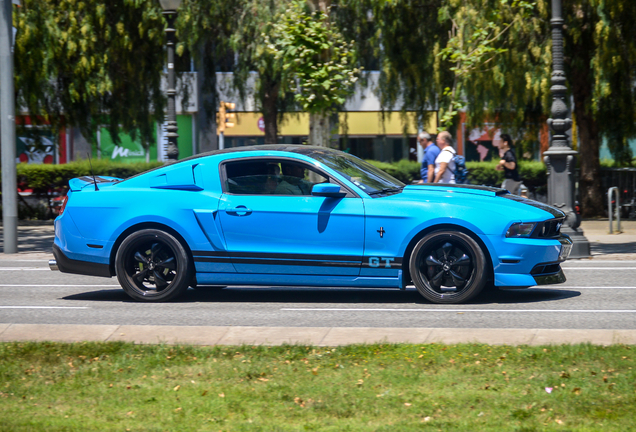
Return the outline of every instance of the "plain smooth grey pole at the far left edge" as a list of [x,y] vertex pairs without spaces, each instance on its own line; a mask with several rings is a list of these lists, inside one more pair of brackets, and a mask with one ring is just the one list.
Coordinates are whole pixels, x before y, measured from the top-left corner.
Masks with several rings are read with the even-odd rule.
[[15,96],[13,93],[13,2],[0,0],[0,145],[2,148],[2,219],[4,253],[18,252],[18,182],[15,167]]

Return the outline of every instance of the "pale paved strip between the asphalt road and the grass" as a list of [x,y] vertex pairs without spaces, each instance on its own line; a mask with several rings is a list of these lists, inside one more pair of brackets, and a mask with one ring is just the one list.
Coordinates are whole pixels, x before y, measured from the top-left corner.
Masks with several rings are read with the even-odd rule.
[[372,343],[490,345],[636,344],[636,330],[0,324],[0,342],[132,342],[180,345]]

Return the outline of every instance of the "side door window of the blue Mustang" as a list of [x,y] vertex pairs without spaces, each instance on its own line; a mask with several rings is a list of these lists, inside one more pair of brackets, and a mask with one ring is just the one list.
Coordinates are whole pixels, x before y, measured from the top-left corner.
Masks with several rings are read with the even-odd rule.
[[250,159],[225,164],[225,190],[237,195],[311,195],[315,184],[329,178],[289,160]]

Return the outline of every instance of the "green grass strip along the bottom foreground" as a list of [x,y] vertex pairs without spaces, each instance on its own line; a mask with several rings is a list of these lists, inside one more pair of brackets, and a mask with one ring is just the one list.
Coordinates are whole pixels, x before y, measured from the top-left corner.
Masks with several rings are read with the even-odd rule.
[[6,431],[629,431],[634,347],[0,344]]

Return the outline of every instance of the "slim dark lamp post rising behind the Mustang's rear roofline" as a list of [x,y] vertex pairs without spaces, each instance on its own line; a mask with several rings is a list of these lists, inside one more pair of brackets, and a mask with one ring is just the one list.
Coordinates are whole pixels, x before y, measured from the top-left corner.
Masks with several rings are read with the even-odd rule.
[[168,157],[168,163],[176,162],[179,159],[179,147],[177,146],[177,138],[179,134],[177,131],[177,112],[176,112],[176,96],[177,90],[175,89],[175,75],[174,75],[174,44],[175,44],[175,29],[174,21],[177,16],[177,9],[181,5],[181,0],[159,0],[161,7],[163,8],[163,14],[166,16],[168,26],[166,27],[166,47],[168,51],[168,115],[166,122],[166,137],[168,138],[168,148],[166,155]]

